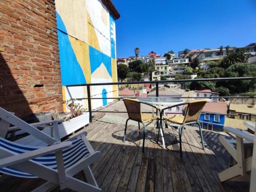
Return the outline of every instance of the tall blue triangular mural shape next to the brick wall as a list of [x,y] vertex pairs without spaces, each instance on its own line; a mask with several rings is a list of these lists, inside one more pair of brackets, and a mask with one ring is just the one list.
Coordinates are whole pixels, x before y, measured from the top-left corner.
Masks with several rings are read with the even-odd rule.
[[68,84],[86,83],[86,78],[84,77],[83,71],[71,46],[65,24],[57,11],[56,19],[58,28],[57,32],[62,86],[67,86]]

